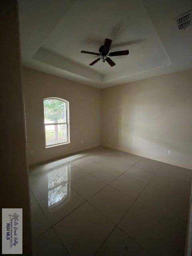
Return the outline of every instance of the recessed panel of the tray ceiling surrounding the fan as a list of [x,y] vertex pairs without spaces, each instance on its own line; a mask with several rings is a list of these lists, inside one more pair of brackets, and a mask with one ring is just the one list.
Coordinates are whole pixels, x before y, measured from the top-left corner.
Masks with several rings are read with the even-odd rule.
[[[98,52],[105,38],[113,40],[110,51],[128,49],[130,54],[112,57],[114,67],[101,61],[89,67],[98,56],[82,54],[81,50]],[[171,64],[140,0],[76,1],[42,48],[92,68],[100,73],[103,82]]]

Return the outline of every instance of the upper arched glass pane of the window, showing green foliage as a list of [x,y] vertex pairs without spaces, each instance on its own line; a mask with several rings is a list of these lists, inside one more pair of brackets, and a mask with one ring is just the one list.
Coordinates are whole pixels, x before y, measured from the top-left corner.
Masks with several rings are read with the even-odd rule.
[[45,124],[66,123],[66,102],[56,99],[44,100]]

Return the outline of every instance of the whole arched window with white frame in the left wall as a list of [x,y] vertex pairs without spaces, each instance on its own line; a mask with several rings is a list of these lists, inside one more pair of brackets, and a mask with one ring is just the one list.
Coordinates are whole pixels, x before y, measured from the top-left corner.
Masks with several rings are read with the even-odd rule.
[[69,102],[60,98],[46,98],[43,105],[46,147],[69,143]]

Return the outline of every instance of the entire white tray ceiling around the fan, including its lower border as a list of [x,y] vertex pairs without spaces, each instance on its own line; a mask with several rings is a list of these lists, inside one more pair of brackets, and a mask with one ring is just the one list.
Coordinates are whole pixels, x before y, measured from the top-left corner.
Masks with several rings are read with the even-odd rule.
[[[105,88],[192,68],[192,26],[179,31],[176,16],[191,0],[19,0],[24,66]],[[105,38],[116,66],[97,62]]]

